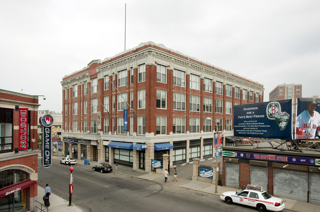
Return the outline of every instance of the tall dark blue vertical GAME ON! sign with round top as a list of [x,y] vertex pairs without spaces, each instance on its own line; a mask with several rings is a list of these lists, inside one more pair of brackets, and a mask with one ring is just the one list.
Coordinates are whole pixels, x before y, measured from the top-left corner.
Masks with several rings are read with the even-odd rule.
[[45,114],[41,116],[39,123],[42,125],[42,166],[48,168],[52,165],[52,115]]

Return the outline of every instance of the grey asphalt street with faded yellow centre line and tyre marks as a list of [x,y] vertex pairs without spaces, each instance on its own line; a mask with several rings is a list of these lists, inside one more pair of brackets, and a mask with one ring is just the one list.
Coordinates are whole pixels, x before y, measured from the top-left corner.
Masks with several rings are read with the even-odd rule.
[[[38,185],[48,183],[51,191],[69,200],[70,166],[52,160],[53,165],[38,165]],[[41,160],[38,160],[41,164]],[[93,172],[91,166],[73,165],[72,203],[85,212],[93,211],[257,211],[242,205],[228,205],[219,196],[165,184],[163,179],[141,180],[116,173]],[[285,211],[285,210],[284,210]]]

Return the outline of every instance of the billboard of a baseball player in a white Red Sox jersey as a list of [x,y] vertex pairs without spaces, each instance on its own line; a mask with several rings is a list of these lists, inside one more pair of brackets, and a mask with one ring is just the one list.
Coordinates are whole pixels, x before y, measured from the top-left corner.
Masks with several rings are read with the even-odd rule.
[[320,139],[319,113],[319,98],[297,98],[295,139]]

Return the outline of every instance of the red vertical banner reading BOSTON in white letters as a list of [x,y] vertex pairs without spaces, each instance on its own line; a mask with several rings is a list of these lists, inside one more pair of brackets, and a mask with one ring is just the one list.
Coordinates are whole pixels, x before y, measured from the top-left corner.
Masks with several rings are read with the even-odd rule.
[[28,108],[19,108],[19,150],[28,150]]

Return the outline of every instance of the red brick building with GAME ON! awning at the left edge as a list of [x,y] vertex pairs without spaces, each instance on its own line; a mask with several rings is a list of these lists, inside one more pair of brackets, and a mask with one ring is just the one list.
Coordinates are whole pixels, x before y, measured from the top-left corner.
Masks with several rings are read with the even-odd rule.
[[[0,211],[36,211],[38,97],[0,89]],[[22,118],[25,137],[19,135]],[[19,150],[20,138],[25,150]]]

